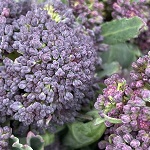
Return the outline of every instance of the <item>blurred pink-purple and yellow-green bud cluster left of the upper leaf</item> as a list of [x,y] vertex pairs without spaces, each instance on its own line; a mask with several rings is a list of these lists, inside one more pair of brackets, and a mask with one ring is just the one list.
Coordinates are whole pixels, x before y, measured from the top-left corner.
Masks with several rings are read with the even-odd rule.
[[77,22],[83,25],[93,38],[97,51],[108,50],[108,45],[101,43],[103,36],[101,35],[100,24],[104,21],[104,4],[98,0],[68,0],[68,3]]

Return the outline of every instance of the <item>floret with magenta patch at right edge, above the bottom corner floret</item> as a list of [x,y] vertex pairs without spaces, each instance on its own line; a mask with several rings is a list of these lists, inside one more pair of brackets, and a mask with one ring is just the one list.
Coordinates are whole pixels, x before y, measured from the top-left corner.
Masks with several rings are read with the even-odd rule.
[[150,130],[150,107],[143,99],[143,93],[142,90],[133,93],[127,105],[123,107],[124,114],[121,116],[122,122],[129,124],[135,131],[140,129]]

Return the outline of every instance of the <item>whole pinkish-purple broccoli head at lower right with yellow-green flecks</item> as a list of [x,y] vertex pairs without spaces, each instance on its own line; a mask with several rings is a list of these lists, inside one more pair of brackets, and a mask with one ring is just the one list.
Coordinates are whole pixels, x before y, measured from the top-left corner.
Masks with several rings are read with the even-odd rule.
[[[110,128],[99,142],[100,149],[150,149],[149,60],[150,53],[132,64],[130,83],[119,75],[105,80],[107,87],[99,95],[95,107],[100,109],[100,116]],[[111,119],[121,122],[114,125]]]

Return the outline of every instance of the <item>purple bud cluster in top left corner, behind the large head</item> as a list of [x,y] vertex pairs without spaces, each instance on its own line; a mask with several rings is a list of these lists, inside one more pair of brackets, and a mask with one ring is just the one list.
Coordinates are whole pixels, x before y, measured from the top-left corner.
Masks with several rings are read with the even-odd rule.
[[0,0],[0,60],[6,54],[14,52],[12,47],[14,42],[13,21],[26,14],[30,9],[30,1]]

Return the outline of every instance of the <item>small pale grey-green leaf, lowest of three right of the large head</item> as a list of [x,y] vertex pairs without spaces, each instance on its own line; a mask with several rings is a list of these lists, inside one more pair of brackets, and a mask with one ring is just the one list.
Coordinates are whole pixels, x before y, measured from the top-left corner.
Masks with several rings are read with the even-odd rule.
[[103,78],[105,76],[110,76],[114,73],[118,73],[121,70],[121,66],[118,62],[111,62],[111,63],[105,63],[102,65],[103,71],[100,71],[98,73],[98,76],[100,78]]

